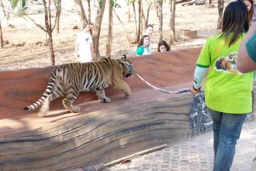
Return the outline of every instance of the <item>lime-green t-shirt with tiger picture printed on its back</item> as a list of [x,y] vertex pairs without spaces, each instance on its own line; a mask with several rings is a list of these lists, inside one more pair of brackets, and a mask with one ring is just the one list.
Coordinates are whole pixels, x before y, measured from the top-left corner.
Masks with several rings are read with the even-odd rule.
[[211,66],[204,83],[206,106],[224,113],[250,113],[253,72],[242,74],[236,69],[237,52],[245,34],[230,47],[225,38],[219,37],[216,34],[207,39],[197,60],[199,67]]

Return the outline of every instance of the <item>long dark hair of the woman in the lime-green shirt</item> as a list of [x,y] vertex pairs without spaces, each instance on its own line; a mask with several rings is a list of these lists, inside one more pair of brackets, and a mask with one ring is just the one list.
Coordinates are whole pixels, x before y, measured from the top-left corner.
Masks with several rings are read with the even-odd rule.
[[235,2],[230,2],[226,7],[223,15],[222,21],[222,34],[220,38],[228,39],[228,35],[233,32],[232,38],[228,46],[231,46],[236,42],[236,40],[242,35],[242,33],[247,32],[249,29],[249,17],[247,7],[241,0]]

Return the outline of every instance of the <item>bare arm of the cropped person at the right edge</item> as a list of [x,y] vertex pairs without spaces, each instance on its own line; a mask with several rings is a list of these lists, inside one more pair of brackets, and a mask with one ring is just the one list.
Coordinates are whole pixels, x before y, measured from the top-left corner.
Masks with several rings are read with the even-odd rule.
[[246,42],[250,39],[250,37],[254,34],[255,31],[256,31],[256,22],[254,22],[254,24],[250,27],[250,30],[246,34],[238,51],[236,64],[237,64],[238,70],[242,73],[252,72],[256,70],[256,62],[254,62],[250,58],[246,49]]

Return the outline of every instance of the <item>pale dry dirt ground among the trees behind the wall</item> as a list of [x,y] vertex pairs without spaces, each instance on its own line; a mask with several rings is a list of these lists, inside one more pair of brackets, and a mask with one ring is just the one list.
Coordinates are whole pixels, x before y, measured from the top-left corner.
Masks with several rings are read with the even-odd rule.
[[[86,1],[85,1],[86,2]],[[84,8],[87,15],[87,4],[84,2]],[[97,1],[96,1],[97,2]],[[131,22],[128,22],[128,6],[126,2],[119,1],[121,8],[116,8],[116,12],[120,16],[128,32],[130,42],[134,40],[134,19],[131,17]],[[230,1],[224,2],[224,7]],[[92,21],[95,19],[97,8],[92,6]],[[213,0],[214,7],[205,8],[204,6],[181,6],[176,5],[176,39],[177,42],[170,44],[171,50],[184,48],[192,48],[203,46],[206,39],[212,35],[219,33],[216,29],[218,20],[218,4],[217,0]],[[60,16],[60,33],[53,33],[54,53],[56,65],[79,61],[74,58],[76,35],[82,30],[80,27],[80,19],[74,8],[73,1],[62,1],[62,14]],[[70,12],[72,11],[72,12]],[[144,3],[144,11],[146,11],[146,3]],[[132,8],[131,12],[132,14]],[[113,14],[114,15],[114,14]],[[33,15],[32,18],[39,24],[44,25],[44,14]],[[169,41],[169,20],[170,20],[170,5],[168,1],[163,3],[163,40]],[[6,21],[1,18],[2,31],[4,40],[8,40],[10,44],[0,48],[0,69],[2,70],[18,70],[22,68],[35,68],[50,65],[50,56],[48,46],[44,46],[46,42],[46,33],[38,28],[29,20],[24,20],[20,17],[11,17]],[[15,27],[10,28],[8,24]],[[158,18],[156,10],[151,10],[149,14],[149,22],[154,26],[152,36],[152,52],[157,52],[158,44]],[[78,29],[72,29],[78,25]],[[181,39],[181,30],[197,30],[198,37],[195,39]],[[106,40],[108,36],[108,5],[106,4],[102,27],[100,32],[100,55],[106,53]],[[13,46],[12,43],[25,42],[26,46]],[[40,43],[36,45],[36,43]],[[128,57],[135,56],[137,44],[131,44],[131,48],[127,48],[125,42],[124,31],[116,16],[113,16],[113,43],[112,43],[112,58],[117,58],[122,54]]]

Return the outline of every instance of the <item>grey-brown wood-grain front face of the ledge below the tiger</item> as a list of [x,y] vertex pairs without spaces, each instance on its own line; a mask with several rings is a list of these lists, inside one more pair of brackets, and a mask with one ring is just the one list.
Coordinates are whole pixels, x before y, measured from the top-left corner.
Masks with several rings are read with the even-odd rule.
[[[136,97],[145,94],[157,98]],[[133,94],[130,100],[122,97],[114,97],[109,107],[100,103],[102,108],[69,119],[64,115],[34,119],[30,115],[30,122],[41,120],[38,128],[1,134],[0,170],[86,167],[188,138],[192,94],[158,95],[150,89]],[[95,105],[95,101],[88,103]],[[50,123],[56,118],[59,120]],[[0,128],[8,125],[6,121]]]

